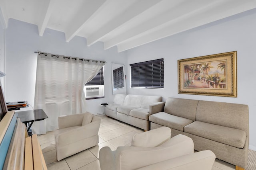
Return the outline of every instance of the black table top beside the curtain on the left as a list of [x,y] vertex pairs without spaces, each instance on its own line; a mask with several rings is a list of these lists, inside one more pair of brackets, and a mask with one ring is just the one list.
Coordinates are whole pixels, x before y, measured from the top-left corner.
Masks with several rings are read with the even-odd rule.
[[[46,113],[43,109],[35,109],[35,121],[40,121],[48,118]],[[22,123],[28,123],[34,121],[34,114],[33,110],[27,110],[27,111],[17,111],[15,113],[18,113],[18,117],[20,118],[20,121]]]

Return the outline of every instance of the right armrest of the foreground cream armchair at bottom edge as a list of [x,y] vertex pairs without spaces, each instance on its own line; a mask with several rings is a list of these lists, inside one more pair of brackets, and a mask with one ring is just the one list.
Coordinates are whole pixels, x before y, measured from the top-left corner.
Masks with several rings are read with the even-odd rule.
[[215,154],[210,150],[187,154],[170,160],[158,162],[149,166],[144,166],[138,170],[171,170],[171,169],[191,169],[191,170],[212,170],[215,161]]

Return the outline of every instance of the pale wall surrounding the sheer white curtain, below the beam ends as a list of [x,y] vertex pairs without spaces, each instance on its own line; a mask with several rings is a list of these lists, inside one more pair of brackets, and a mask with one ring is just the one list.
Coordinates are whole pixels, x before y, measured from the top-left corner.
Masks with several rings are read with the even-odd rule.
[[[102,111],[102,103],[113,100],[111,63],[125,62],[125,53],[115,48],[104,50],[103,43],[90,47],[83,37],[74,37],[69,43],[63,32],[46,29],[38,35],[38,27],[30,23],[10,19],[6,29],[6,101],[27,100],[34,106],[37,54],[34,51],[106,61],[104,66],[105,98],[86,100],[87,111]],[[27,108],[31,109],[31,108]],[[23,108],[22,110],[25,110]]]

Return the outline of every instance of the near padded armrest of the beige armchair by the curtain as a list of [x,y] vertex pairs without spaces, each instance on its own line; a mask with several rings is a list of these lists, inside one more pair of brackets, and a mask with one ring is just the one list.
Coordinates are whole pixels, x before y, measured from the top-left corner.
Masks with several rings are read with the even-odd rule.
[[98,135],[100,129],[100,121],[94,121],[87,125],[65,131],[55,135],[56,147],[63,147],[65,145],[76,143],[82,139]]

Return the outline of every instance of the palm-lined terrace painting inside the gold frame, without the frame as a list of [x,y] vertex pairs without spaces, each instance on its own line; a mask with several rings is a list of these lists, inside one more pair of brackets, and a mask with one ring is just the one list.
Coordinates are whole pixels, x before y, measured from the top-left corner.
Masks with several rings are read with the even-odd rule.
[[184,65],[184,88],[226,88],[226,60]]

